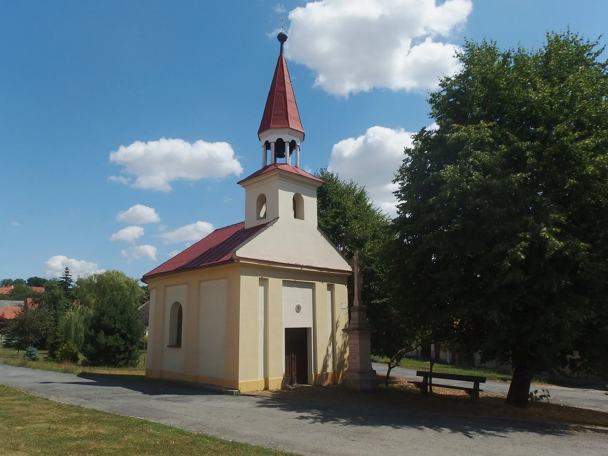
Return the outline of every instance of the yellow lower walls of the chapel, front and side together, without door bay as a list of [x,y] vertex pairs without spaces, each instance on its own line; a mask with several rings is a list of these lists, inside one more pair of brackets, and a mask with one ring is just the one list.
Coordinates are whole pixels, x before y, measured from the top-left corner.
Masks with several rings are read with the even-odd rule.
[[[341,382],[348,367],[347,335],[342,331],[348,310],[341,306],[348,302],[347,275],[243,263],[148,280],[146,375],[243,392],[285,386],[284,281],[313,284],[313,383]],[[184,312],[180,348],[167,347],[169,311],[175,301]]]

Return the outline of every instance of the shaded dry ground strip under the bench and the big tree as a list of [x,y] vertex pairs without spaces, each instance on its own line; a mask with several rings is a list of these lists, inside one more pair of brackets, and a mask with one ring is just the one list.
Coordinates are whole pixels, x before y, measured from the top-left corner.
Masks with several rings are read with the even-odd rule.
[[388,388],[384,387],[384,375],[379,375],[378,381],[380,384],[378,390],[364,393],[349,391],[342,385],[327,387],[298,385],[285,390],[249,394],[442,415],[493,416],[514,420],[608,427],[608,413],[599,410],[579,409],[546,402],[530,402],[527,409],[518,409],[506,406],[503,396],[485,393],[480,393],[479,404],[473,404],[463,391],[437,387],[433,387],[432,395],[423,398],[420,390],[405,379],[391,378]]

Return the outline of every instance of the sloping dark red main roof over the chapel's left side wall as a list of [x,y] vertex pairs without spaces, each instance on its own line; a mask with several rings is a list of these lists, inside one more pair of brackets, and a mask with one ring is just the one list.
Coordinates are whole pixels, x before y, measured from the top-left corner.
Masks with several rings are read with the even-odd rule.
[[258,232],[272,224],[274,221],[245,229],[245,223],[237,223],[224,228],[216,229],[196,244],[175,255],[143,275],[142,279],[158,274],[185,271],[186,269],[206,268],[219,263],[232,260],[232,253],[241,244],[246,243]]

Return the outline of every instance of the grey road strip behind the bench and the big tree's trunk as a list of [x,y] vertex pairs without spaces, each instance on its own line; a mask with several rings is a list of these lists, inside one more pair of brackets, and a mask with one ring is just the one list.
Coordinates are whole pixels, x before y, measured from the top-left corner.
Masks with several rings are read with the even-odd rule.
[[[373,363],[373,368],[379,374],[386,374],[387,365]],[[405,378],[409,380],[421,381],[421,377],[416,377],[416,371],[413,369],[406,369],[402,367],[395,367],[390,371],[391,376]],[[459,382],[454,380],[439,380],[437,383],[443,383],[446,385],[458,385],[471,387],[471,382]],[[506,396],[509,390],[509,383],[505,382],[485,382],[480,385],[480,388],[485,393]],[[532,385],[531,390],[546,389],[549,390],[551,398],[549,401],[554,404],[561,404],[563,406],[582,407],[584,409],[603,410],[608,412],[608,396],[604,394],[604,390],[592,388],[577,388],[577,387],[563,387],[556,385]]]

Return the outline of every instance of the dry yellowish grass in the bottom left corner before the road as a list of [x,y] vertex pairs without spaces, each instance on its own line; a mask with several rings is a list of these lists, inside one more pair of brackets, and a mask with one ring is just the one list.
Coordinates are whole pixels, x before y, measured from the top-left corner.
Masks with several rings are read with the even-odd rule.
[[6,386],[0,386],[0,433],[0,456],[287,455],[164,424],[53,402]]

